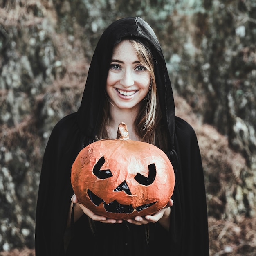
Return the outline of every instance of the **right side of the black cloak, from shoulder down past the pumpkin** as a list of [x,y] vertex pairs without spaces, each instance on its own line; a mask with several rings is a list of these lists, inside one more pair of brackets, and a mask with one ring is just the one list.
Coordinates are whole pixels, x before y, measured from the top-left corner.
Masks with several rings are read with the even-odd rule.
[[[209,255],[209,236],[204,173],[195,130],[175,117],[174,205],[170,236],[177,255]],[[176,255],[176,254],[175,254]]]

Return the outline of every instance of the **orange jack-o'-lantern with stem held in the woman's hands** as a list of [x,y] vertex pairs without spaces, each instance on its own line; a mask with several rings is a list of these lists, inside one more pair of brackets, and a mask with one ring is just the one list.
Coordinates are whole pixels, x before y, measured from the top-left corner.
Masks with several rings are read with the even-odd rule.
[[121,123],[117,139],[93,142],[79,152],[71,184],[79,202],[94,213],[127,220],[164,208],[175,176],[162,150],[129,139],[127,126]]

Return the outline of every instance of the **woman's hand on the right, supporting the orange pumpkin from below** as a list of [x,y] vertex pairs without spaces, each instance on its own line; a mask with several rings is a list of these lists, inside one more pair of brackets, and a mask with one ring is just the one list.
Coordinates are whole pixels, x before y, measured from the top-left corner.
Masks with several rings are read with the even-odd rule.
[[167,230],[169,230],[169,216],[171,214],[171,206],[173,206],[173,200],[170,199],[167,203],[166,207],[164,207],[162,210],[157,211],[153,215],[146,215],[146,216],[136,216],[133,219],[128,219],[127,222],[135,224],[135,225],[142,225],[142,224],[148,224],[149,222],[157,222],[159,223]]

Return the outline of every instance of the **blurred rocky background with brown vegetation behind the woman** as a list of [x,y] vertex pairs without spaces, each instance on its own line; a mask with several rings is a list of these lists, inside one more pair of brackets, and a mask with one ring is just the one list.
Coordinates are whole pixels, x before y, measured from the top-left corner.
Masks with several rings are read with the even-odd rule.
[[[0,0],[0,255],[34,255],[50,132],[79,107],[94,47],[140,16],[202,153],[211,256],[256,254],[256,0]],[[196,184],[195,184],[196,185]]]

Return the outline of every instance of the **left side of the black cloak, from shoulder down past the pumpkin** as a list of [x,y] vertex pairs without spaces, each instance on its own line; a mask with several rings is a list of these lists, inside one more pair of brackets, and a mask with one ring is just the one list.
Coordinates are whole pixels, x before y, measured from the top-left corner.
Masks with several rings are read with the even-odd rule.
[[37,256],[63,255],[63,234],[73,195],[70,172],[82,147],[81,138],[73,113],[56,124],[47,142],[36,206]]

